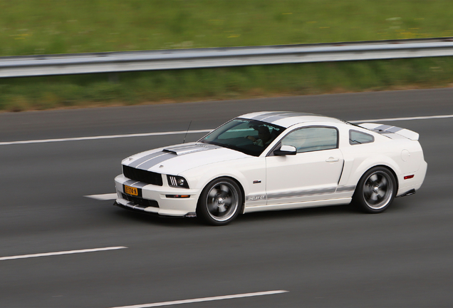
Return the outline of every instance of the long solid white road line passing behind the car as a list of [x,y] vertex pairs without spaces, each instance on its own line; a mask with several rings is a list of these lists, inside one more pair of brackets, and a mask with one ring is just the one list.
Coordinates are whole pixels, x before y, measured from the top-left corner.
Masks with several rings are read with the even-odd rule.
[[[395,120],[429,120],[437,118],[453,118],[453,115],[445,116],[420,116],[420,117],[411,117],[411,118],[382,118],[382,119],[372,119],[372,120],[352,120],[348,121],[350,123],[365,123],[365,122],[387,122]],[[0,145],[14,145],[14,144],[28,144],[28,143],[51,143],[51,142],[62,142],[62,141],[78,141],[78,140],[98,140],[98,139],[113,139],[113,138],[130,138],[130,137],[147,137],[155,135],[177,135],[182,133],[209,133],[212,129],[209,130],[179,130],[171,132],[162,132],[162,133],[137,133],[137,134],[127,134],[127,135],[100,135],[92,137],[76,137],[76,138],[59,138],[59,139],[41,139],[41,140],[21,140],[21,141],[8,141],[0,142]]]

